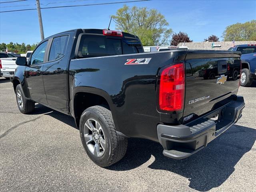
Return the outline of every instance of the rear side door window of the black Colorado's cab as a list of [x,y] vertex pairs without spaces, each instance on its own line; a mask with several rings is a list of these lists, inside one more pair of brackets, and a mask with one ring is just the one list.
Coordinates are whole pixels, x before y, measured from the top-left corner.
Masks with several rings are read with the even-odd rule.
[[67,44],[68,35],[54,38],[50,49],[49,61],[62,58],[66,52]]

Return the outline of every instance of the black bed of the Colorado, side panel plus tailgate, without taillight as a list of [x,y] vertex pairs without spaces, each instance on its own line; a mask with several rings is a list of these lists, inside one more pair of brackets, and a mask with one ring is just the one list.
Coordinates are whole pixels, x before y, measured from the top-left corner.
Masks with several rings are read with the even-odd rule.
[[[151,60],[148,64],[125,64],[133,58]],[[219,101],[234,99],[239,79],[226,80],[220,85],[217,84],[219,74],[204,80],[196,71],[198,63],[201,69],[208,68],[210,62],[218,64],[219,60],[234,64],[234,60],[240,62],[240,55],[239,52],[171,50],[74,59],[70,62],[70,92],[73,97],[80,87],[92,93],[102,90],[111,103],[115,126],[120,132],[157,141],[155,128],[160,122],[178,125],[185,122],[184,117],[189,122],[216,108]],[[184,110],[164,112],[158,108],[159,70],[176,62],[186,64]],[[189,100],[203,96],[209,97],[202,102],[188,104]]]

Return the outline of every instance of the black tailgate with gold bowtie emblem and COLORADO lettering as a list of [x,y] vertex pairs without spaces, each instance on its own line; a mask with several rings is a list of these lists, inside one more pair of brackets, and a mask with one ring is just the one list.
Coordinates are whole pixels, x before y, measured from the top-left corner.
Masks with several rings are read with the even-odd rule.
[[187,50],[184,122],[226,104],[236,97],[240,52]]

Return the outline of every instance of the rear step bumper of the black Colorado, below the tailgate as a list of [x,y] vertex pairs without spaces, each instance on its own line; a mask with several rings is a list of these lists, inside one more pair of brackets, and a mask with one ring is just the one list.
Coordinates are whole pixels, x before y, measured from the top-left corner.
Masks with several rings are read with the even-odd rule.
[[[159,124],[158,140],[162,144],[164,156],[184,159],[205,148],[209,142],[220,136],[242,117],[244,98],[218,108],[192,122],[179,126]],[[210,120],[218,115],[218,120]]]

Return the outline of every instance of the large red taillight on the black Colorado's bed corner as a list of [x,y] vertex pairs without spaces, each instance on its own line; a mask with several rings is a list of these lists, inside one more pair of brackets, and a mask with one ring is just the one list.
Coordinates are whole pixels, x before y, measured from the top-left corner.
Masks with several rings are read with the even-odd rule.
[[165,68],[160,75],[159,107],[161,110],[176,111],[184,107],[185,76],[184,64]]

